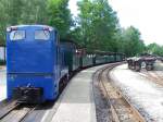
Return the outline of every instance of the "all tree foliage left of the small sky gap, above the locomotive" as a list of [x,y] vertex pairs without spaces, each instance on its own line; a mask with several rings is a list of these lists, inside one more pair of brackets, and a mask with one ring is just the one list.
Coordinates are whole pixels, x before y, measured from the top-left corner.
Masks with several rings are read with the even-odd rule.
[[5,28],[18,24],[47,24],[57,27],[65,37],[72,17],[68,0],[0,0],[0,42],[4,44]]

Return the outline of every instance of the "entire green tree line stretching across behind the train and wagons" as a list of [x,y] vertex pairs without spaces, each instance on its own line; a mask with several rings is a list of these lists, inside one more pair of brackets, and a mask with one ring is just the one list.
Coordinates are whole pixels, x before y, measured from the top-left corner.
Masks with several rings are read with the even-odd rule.
[[80,0],[79,14],[72,17],[68,0],[0,0],[0,44],[5,28],[17,24],[46,24],[55,27],[61,38],[75,40],[88,50],[124,52],[127,57],[148,51],[163,56],[163,47],[145,46],[140,32],[122,28],[108,0]]

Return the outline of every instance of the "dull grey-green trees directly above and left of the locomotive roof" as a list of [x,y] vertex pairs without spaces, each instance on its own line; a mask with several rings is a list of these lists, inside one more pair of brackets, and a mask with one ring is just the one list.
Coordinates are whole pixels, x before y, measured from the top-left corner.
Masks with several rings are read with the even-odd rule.
[[47,24],[47,0],[0,0],[0,42],[5,28],[17,24]]

